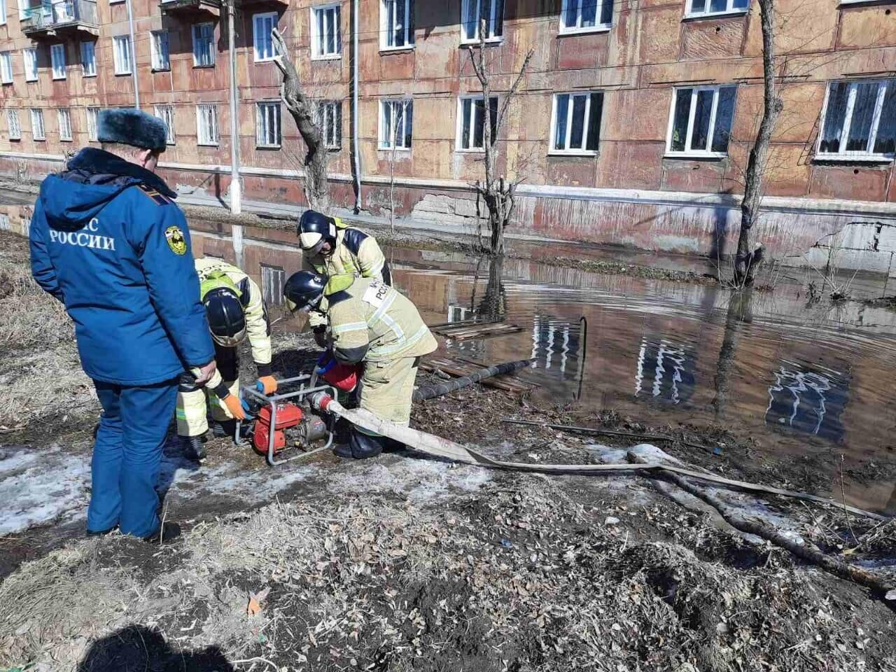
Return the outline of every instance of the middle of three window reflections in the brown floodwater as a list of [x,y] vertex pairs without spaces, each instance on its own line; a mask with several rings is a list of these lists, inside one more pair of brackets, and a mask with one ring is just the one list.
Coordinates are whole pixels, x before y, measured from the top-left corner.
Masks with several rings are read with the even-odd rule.
[[677,404],[694,394],[694,350],[669,340],[642,338],[634,396]]

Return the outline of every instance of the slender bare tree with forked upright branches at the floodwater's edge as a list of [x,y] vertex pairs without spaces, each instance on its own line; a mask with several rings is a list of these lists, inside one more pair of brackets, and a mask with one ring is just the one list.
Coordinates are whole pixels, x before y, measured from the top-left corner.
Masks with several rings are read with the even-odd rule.
[[[520,73],[517,74],[511,88],[504,94],[504,101],[497,110],[497,116],[492,119],[491,99],[491,82],[486,63],[486,22],[485,19],[479,22],[479,45],[478,51],[471,45],[467,47],[470,52],[470,62],[473,70],[482,85],[482,106],[484,112],[484,124],[482,129],[483,146],[485,149],[486,159],[486,179],[485,182],[477,182],[476,189],[479,196],[486,203],[488,210],[488,230],[491,233],[490,247],[492,254],[504,254],[504,228],[510,223],[513,216],[514,195],[517,185],[520,184],[521,177],[517,177],[516,181],[509,181],[504,175],[498,175],[497,161],[500,157],[500,151],[495,146],[495,141],[501,135],[504,128],[504,122],[507,120],[507,110],[510,108],[510,102],[516,91],[520,88],[522,77],[529,67],[529,62],[535,54],[535,49],[530,49],[522,62]],[[494,137],[492,134],[494,132]]]

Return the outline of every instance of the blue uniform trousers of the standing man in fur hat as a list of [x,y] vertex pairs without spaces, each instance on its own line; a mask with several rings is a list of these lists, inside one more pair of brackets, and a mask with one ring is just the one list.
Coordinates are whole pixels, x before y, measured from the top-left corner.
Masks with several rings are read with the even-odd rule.
[[94,381],[103,417],[91,462],[87,529],[118,525],[146,537],[159,528],[156,483],[162,447],[177,401],[177,378],[142,387]]

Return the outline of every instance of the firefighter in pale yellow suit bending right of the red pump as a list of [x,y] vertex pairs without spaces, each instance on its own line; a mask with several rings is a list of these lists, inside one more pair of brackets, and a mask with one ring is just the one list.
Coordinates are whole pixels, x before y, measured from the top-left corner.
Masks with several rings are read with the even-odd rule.
[[[298,271],[283,290],[292,311],[320,313],[327,280],[313,271]],[[358,405],[396,425],[407,426],[420,358],[436,349],[433,334],[417,306],[382,280],[358,278],[326,297],[326,320],[333,357],[341,364],[363,362]],[[361,460],[383,452],[386,437],[358,426],[340,457]]]

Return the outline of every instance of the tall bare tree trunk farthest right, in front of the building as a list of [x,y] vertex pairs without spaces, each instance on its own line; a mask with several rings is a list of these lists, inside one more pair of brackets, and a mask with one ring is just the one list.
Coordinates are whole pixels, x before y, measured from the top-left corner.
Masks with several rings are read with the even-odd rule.
[[734,269],[737,287],[753,284],[756,267],[762,261],[762,246],[754,249],[751,233],[762,207],[763,179],[769,159],[771,133],[781,109],[784,108],[778,93],[778,83],[775,81],[775,0],[759,0],[759,8],[762,22],[762,121],[746,165]]

